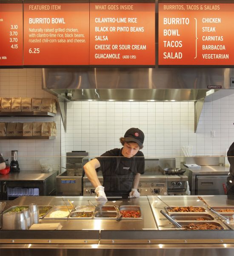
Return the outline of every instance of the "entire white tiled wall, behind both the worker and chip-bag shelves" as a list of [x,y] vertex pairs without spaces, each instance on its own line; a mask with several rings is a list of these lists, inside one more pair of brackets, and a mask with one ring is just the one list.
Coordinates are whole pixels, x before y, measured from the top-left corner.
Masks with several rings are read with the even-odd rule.
[[[41,89],[41,69],[0,69],[1,97],[51,97]],[[86,150],[91,157],[119,148],[119,138],[131,127],[145,133],[146,157],[183,156],[192,145],[194,155],[226,155],[234,141],[234,94],[220,90],[205,102],[194,133],[194,102],[68,102],[67,132],[60,114],[51,117],[1,117],[0,122],[55,121],[55,140],[0,140],[0,152],[19,150],[20,168],[40,169],[38,159],[53,157],[55,168],[65,166],[66,152]],[[221,97],[220,97],[221,96]],[[215,137],[211,137],[215,131]]]

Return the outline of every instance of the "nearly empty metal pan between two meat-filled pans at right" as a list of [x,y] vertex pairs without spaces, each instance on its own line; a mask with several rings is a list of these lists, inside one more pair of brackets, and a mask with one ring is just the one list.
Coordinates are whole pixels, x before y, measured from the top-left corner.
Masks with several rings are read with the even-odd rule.
[[176,221],[202,221],[198,220],[198,218],[203,218],[204,221],[214,220],[214,218],[210,214],[204,212],[173,212],[170,214],[170,216],[174,218]]

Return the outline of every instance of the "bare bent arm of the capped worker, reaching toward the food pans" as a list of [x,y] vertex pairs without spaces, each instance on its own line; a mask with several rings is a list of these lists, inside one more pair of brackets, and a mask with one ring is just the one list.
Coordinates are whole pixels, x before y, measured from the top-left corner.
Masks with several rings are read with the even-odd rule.
[[84,165],[86,176],[88,177],[88,180],[92,183],[94,188],[96,188],[97,186],[102,186],[97,177],[96,169],[98,167],[100,167],[100,163],[97,160],[97,158],[90,160],[88,163]]

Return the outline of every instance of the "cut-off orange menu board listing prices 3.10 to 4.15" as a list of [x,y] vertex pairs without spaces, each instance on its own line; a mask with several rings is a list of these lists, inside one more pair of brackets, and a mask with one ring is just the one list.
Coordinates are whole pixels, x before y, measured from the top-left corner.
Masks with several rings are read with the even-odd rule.
[[0,3],[0,67],[23,65],[23,3]]

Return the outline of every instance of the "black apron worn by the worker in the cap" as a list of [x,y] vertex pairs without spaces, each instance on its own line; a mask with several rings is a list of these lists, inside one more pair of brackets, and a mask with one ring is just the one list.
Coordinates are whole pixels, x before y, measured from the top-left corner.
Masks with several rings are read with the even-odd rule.
[[128,158],[123,157],[121,154],[122,150],[120,150],[119,156],[116,157],[116,167],[114,172],[110,177],[106,177],[107,179],[104,182],[104,186],[106,182],[110,182],[110,185],[107,186],[108,189],[105,189],[105,193],[107,197],[121,197],[128,198],[129,192],[131,192],[132,184],[135,178],[134,167],[135,167],[135,158],[129,159],[132,161],[129,164],[124,164],[125,159],[128,163]]

